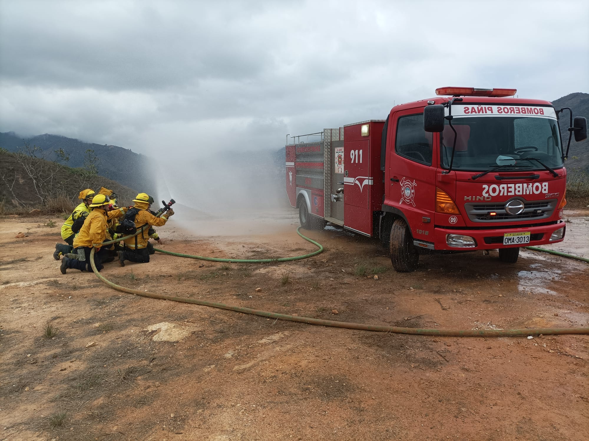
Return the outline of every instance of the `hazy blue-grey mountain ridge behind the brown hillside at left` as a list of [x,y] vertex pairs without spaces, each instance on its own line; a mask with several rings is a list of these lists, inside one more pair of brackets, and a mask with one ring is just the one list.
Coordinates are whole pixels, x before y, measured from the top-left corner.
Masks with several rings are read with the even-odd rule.
[[108,177],[123,186],[141,192],[151,194],[155,191],[151,173],[151,170],[154,170],[155,161],[143,154],[134,153],[130,149],[107,144],[85,143],[77,139],[47,133],[25,140],[12,131],[0,133],[0,147],[9,152],[16,152],[24,141],[27,141],[31,146],[38,146],[51,152],[63,149],[70,156],[70,161],[67,164],[70,167],[82,167],[86,150],[94,150],[95,156],[99,158],[96,164],[98,175]]

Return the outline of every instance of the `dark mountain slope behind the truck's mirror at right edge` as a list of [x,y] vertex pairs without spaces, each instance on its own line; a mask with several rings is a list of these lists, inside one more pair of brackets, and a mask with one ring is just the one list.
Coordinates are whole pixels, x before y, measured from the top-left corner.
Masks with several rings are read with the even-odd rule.
[[[588,93],[571,93],[558,100],[552,101],[555,109],[560,110],[563,107],[570,107],[573,109],[573,117],[584,116],[589,120],[589,94]],[[562,144],[566,152],[568,143],[568,127],[570,126],[570,116],[568,110],[562,111],[560,114],[560,131],[562,134]],[[584,170],[589,172],[589,140],[575,142],[575,138],[571,139],[571,148],[568,151],[568,160],[565,163],[567,172],[574,172],[575,170]]]

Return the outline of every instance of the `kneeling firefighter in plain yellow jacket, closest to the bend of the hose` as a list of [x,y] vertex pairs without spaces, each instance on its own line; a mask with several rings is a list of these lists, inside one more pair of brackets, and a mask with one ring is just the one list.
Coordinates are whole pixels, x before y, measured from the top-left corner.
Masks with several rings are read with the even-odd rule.
[[123,216],[126,209],[120,208],[112,210],[112,203],[108,196],[96,195],[90,204],[92,211],[84,221],[80,233],[74,239],[74,251],[77,253],[77,259],[65,257],[61,261],[61,274],[65,274],[68,268],[80,269],[80,271],[92,271],[90,264],[90,252],[95,248],[94,264],[100,271],[102,267],[102,242],[106,239],[108,219]]

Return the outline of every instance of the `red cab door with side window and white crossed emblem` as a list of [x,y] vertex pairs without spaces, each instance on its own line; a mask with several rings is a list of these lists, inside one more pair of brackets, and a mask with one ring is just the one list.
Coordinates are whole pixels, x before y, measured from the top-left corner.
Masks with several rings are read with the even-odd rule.
[[[389,123],[385,202],[402,212],[415,239],[433,241],[437,160],[434,136],[423,130],[423,108],[403,110]],[[429,219],[429,222],[427,222]]]

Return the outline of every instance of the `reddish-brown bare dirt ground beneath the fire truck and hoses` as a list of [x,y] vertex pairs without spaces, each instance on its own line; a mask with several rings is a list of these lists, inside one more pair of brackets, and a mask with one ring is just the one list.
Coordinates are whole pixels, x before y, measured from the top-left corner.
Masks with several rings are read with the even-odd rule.
[[[558,248],[586,253],[589,212],[567,216],[573,239]],[[242,234],[227,224],[217,236],[197,222],[198,236],[172,218],[158,232],[162,248],[186,254],[315,249],[296,235],[296,212],[273,219]],[[52,258],[61,222],[48,220],[0,219],[0,439],[589,439],[587,335],[420,337],[151,300],[92,273],[62,275]],[[418,271],[401,274],[368,238],[335,228],[309,236],[326,251],[303,261],[155,254],[101,274],[135,289],[339,321],[588,326],[582,262],[523,251],[509,265],[496,251],[476,252],[422,256]]]

